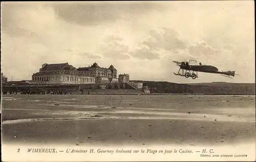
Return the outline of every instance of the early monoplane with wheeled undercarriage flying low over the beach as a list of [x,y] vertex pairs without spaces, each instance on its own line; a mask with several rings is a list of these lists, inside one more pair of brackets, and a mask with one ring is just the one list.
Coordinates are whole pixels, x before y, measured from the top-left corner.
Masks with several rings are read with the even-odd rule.
[[[193,61],[195,62],[193,64]],[[221,74],[222,76],[231,78],[230,76],[234,77],[234,75],[238,75],[238,74],[234,74],[234,71],[227,71],[227,72],[219,72],[218,68],[215,66],[211,66],[211,65],[202,65],[201,62],[199,63],[199,65],[196,64],[196,60],[189,60],[189,62],[179,62],[179,61],[173,61],[174,63],[176,63],[180,69],[179,72],[175,75],[179,75],[179,76],[184,76],[186,78],[191,77],[192,79],[196,79],[198,78],[198,74],[197,72],[203,72],[203,73],[214,73],[214,74]],[[182,73],[180,73],[180,71],[182,70]],[[192,71],[192,73],[191,73]],[[194,73],[196,72],[196,74]]]

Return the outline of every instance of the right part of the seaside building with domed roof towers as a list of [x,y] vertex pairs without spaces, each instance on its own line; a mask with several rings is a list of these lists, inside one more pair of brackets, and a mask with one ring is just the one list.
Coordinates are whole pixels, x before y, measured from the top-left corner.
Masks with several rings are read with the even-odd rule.
[[95,78],[95,83],[114,83],[118,82],[117,70],[113,65],[109,68],[100,67],[96,62],[88,67],[77,68],[80,76],[89,76]]

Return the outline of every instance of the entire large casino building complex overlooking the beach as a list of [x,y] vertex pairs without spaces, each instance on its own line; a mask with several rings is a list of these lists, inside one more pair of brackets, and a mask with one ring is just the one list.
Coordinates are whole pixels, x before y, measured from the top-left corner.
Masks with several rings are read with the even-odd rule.
[[96,62],[88,67],[75,68],[67,63],[42,64],[39,72],[32,75],[32,84],[92,84],[118,82],[117,70],[100,67]]

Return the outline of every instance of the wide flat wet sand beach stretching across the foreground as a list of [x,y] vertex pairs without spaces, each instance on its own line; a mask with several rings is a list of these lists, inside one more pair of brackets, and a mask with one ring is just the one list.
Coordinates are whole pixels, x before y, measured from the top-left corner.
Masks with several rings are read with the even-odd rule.
[[255,142],[255,96],[2,97],[4,144]]

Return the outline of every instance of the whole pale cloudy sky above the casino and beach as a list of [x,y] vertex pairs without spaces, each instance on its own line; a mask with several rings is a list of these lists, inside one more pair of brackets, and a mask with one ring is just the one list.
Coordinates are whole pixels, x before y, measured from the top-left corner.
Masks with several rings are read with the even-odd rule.
[[[44,63],[111,64],[131,80],[255,83],[253,1],[1,3],[1,68],[29,80]],[[194,59],[233,79],[175,76]]]

